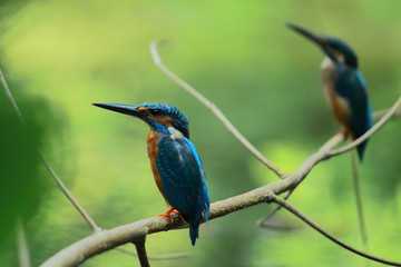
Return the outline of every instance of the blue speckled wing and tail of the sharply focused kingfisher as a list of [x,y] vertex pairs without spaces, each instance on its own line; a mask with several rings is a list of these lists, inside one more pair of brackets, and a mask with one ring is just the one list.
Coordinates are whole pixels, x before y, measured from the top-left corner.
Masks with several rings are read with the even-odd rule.
[[189,224],[194,245],[202,216],[207,220],[209,214],[209,196],[199,156],[185,137],[162,135],[157,148],[156,165],[165,197]]

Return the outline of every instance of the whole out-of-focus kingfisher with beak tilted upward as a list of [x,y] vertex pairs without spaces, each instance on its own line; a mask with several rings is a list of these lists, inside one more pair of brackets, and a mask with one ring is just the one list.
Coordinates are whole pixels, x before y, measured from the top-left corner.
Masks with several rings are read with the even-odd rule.
[[[335,119],[344,127],[344,137],[359,138],[372,127],[373,117],[355,52],[334,37],[316,34],[293,23],[286,24],[323,50],[325,58],[321,65],[321,78],[326,99]],[[366,142],[356,147],[361,161]]]

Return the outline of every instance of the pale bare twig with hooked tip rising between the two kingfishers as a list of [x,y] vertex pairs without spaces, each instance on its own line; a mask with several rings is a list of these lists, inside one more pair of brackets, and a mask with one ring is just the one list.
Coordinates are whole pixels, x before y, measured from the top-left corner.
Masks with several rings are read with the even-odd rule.
[[266,157],[262,155],[239,131],[238,129],[227,119],[227,117],[223,113],[223,111],[217,108],[211,100],[199,93],[195,88],[189,86],[183,79],[180,79],[177,75],[175,75],[168,67],[164,65],[162,58],[158,53],[157,47],[160,43],[166,43],[166,40],[162,41],[153,41],[150,43],[150,53],[155,65],[174,82],[176,82],[179,87],[185,89],[192,96],[194,96],[199,102],[206,106],[227,128],[227,130],[252,154],[254,155],[261,162],[263,162],[268,169],[275,172],[278,177],[284,178],[286,175],[278,169],[273,162],[271,162]]

